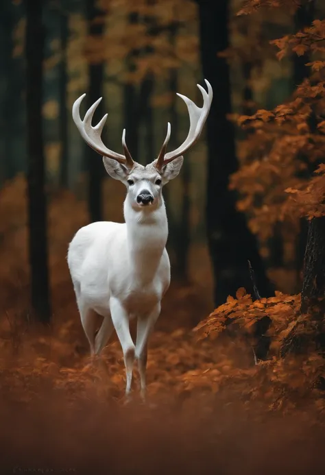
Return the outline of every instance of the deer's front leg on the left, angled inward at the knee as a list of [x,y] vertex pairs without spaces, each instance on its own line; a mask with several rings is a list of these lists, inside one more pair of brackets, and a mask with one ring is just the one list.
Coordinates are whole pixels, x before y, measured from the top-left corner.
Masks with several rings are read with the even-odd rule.
[[130,324],[128,313],[115,297],[110,299],[110,312],[112,322],[117,332],[117,337],[121,343],[124,356],[125,372],[126,372],[126,388],[125,395],[130,395],[132,385],[132,372],[135,357],[135,346],[130,334]]

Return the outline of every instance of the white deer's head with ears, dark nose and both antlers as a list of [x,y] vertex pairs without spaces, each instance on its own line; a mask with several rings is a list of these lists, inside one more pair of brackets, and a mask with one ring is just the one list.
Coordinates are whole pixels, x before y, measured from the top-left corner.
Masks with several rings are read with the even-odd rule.
[[197,84],[203,96],[202,108],[196,106],[188,97],[178,94],[186,103],[190,118],[189,134],[184,143],[177,149],[166,152],[171,135],[171,126],[168,123],[166,138],[158,158],[145,167],[132,160],[130,151],[125,143],[125,129],[122,134],[123,155],[108,149],[101,141],[101,132],[105,125],[107,114],[104,115],[95,127],[91,125],[93,114],[101,101],[101,97],[88,109],[83,121],[80,119],[80,104],[86,94],[80,96],[73,104],[73,121],[77,125],[82,138],[98,154],[103,156],[104,167],[108,175],[125,184],[128,189],[126,199],[129,200],[132,208],[141,209],[148,206],[148,208],[154,209],[159,206],[162,201],[163,186],[170,180],[173,180],[173,178],[176,178],[180,172],[183,163],[182,154],[197,142],[210,110],[213,90],[210,83],[207,80],[205,82],[208,87],[208,93],[200,84]]

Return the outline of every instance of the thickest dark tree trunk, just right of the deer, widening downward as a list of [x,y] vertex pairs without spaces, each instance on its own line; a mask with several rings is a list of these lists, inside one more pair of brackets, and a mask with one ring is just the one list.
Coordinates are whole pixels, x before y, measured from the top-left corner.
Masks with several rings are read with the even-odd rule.
[[200,14],[201,59],[204,77],[213,86],[214,99],[207,119],[208,184],[206,224],[208,245],[215,276],[215,305],[234,295],[239,287],[253,293],[248,260],[258,289],[272,295],[263,260],[245,215],[236,210],[235,193],[228,189],[229,176],[237,170],[234,127],[227,119],[231,112],[230,71],[217,53],[229,45],[228,1],[197,1]]

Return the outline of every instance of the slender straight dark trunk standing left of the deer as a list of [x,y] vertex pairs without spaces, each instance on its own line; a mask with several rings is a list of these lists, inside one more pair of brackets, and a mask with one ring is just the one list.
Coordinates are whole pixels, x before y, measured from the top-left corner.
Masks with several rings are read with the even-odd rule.
[[42,3],[42,0],[26,1],[27,193],[32,306],[38,319],[48,322],[51,310],[47,265],[47,208],[42,130],[44,45]]

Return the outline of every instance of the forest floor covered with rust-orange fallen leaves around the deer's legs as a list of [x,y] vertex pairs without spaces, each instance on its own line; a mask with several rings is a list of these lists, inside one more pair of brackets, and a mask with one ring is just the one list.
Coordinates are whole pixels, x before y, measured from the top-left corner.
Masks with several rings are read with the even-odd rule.
[[321,466],[315,400],[270,403],[272,381],[258,391],[252,349],[240,338],[197,341],[200,296],[190,287],[167,295],[149,344],[147,404],[136,371],[134,400],[124,404],[116,337],[91,362],[73,299],[47,330],[6,313],[1,474],[309,474]]

